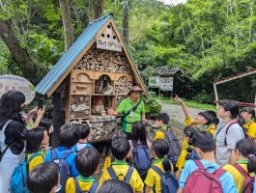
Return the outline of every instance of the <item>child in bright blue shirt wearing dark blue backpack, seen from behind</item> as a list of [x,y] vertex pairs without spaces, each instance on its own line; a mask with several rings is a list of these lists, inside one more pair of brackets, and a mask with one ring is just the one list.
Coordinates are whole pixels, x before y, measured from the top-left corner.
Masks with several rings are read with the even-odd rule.
[[80,139],[80,133],[75,124],[64,124],[59,132],[59,147],[46,153],[44,161],[54,161],[60,167],[61,185],[64,187],[59,192],[65,193],[66,182],[69,177],[76,178],[79,173],[75,168],[75,152],[72,147]]

